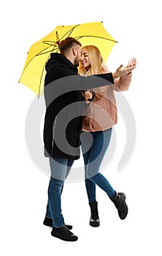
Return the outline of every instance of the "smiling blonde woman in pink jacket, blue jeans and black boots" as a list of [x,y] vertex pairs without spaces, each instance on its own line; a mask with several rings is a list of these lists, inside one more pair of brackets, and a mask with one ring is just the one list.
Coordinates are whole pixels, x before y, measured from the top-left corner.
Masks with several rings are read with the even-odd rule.
[[[128,67],[136,65],[136,59],[128,62]],[[88,45],[82,48],[79,67],[80,75],[94,75],[109,72],[103,65],[101,53],[96,46]],[[85,162],[85,187],[90,205],[90,225],[99,227],[98,202],[96,201],[96,185],[98,185],[115,203],[120,219],[125,219],[128,214],[126,195],[117,193],[109,184],[107,178],[99,173],[99,167],[104,154],[109,146],[112,127],[117,123],[117,108],[115,105],[115,91],[126,91],[131,83],[131,73],[114,80],[114,85],[104,86],[94,90],[93,101],[85,111],[82,124],[82,153]],[[85,91],[86,96],[86,91]],[[93,143],[88,139],[88,134],[93,137]],[[90,146],[90,143],[92,144]],[[87,151],[87,148],[88,149]]]

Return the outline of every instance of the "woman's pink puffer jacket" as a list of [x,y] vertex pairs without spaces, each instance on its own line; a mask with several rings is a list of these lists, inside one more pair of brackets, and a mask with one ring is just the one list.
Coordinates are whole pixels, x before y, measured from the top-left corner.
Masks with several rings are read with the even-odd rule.
[[[104,67],[103,73],[109,72]],[[109,129],[117,124],[117,107],[115,101],[115,91],[127,91],[131,83],[132,73],[114,80],[112,86],[103,86],[95,92],[103,95],[101,99],[93,99],[85,110],[85,117],[82,123],[82,130],[85,132],[96,132]]]

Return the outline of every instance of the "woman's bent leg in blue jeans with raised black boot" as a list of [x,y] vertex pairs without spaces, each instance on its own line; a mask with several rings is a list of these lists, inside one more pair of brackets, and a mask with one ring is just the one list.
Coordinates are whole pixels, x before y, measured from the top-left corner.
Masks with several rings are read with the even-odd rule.
[[[101,162],[104,159],[104,154],[109,146],[112,128],[107,129],[104,132],[91,132],[91,134],[93,135],[93,146],[90,148],[90,154],[88,156],[86,176],[90,179],[90,181],[93,181],[94,184],[97,184],[101,189],[104,190],[104,192],[107,193],[107,195],[109,195],[110,199],[117,208],[120,219],[126,219],[128,214],[126,195],[123,192],[115,192],[115,190],[109,184],[109,181],[107,181],[107,178],[99,173]],[[97,207],[95,212],[97,212]],[[93,218],[93,220],[95,219]]]

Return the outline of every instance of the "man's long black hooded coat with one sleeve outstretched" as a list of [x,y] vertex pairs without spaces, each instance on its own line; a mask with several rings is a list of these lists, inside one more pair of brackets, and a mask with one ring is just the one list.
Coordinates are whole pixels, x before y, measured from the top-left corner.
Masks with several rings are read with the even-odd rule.
[[45,68],[45,156],[79,159],[86,107],[82,90],[113,83],[112,74],[81,77],[77,67],[60,53],[52,53]]

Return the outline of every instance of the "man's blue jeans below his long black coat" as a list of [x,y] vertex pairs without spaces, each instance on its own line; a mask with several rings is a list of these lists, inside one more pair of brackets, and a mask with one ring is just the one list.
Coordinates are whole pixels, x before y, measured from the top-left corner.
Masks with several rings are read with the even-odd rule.
[[53,219],[53,227],[65,225],[63,214],[61,213],[61,194],[63,184],[74,160],[50,158],[50,183],[48,187],[48,202],[46,217]]

